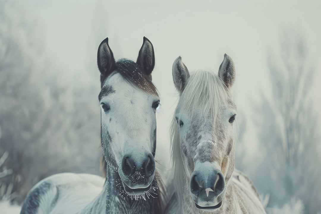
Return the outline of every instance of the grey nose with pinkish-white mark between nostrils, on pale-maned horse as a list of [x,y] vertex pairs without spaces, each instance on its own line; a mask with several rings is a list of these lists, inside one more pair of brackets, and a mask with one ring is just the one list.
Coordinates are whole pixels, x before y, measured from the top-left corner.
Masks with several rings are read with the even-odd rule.
[[201,192],[204,192],[203,194],[206,194],[207,197],[216,197],[224,191],[224,187],[224,175],[220,170],[214,170],[214,172],[208,176],[207,181],[205,181],[204,176],[198,173],[192,175],[190,181],[190,190],[195,196],[199,195]]

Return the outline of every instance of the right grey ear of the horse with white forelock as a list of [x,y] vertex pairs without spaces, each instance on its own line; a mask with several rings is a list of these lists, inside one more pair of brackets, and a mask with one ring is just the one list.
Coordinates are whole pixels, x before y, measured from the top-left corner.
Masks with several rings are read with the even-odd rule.
[[224,54],[223,62],[220,65],[219,77],[225,83],[225,86],[230,89],[235,81],[235,66],[232,58]]

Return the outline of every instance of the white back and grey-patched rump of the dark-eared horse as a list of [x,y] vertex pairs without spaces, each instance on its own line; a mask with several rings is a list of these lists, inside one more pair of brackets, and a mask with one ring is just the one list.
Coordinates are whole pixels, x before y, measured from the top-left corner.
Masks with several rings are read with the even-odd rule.
[[89,174],[52,175],[30,190],[20,214],[77,213],[101,192],[104,181]]

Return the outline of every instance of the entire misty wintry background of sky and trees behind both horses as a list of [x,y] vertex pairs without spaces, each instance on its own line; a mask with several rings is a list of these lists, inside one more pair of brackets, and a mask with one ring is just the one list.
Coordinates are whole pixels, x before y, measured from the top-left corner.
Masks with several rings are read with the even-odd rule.
[[[97,48],[136,60],[143,36],[160,92],[156,158],[169,164],[178,93],[172,63],[217,73],[228,53],[236,168],[267,213],[321,213],[320,9],[317,1],[0,2],[0,200],[21,204],[39,180],[99,171]],[[8,202],[9,201],[9,202]]]

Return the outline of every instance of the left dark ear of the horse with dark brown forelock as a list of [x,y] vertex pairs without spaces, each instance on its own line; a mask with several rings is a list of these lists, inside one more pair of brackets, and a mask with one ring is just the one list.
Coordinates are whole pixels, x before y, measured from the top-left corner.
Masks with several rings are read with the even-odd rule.
[[108,45],[108,38],[104,39],[98,47],[97,64],[100,71],[100,81],[103,81],[116,69],[116,62]]

